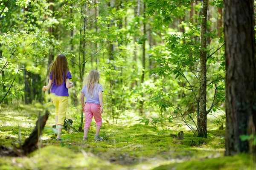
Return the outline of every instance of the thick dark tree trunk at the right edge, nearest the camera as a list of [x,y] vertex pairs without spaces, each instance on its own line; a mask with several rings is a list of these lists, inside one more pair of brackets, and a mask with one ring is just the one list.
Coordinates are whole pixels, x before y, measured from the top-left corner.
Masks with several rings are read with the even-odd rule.
[[254,0],[224,1],[226,156],[248,153],[249,117],[256,120]]

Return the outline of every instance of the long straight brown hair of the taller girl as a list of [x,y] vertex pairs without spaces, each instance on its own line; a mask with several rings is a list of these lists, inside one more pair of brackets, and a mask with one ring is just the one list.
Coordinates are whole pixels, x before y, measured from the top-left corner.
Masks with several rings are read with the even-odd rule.
[[67,79],[67,71],[69,71],[67,57],[64,54],[58,54],[54,62],[52,62],[49,76],[52,72],[52,82],[55,80],[56,85],[61,85],[63,83],[63,74],[65,82]]

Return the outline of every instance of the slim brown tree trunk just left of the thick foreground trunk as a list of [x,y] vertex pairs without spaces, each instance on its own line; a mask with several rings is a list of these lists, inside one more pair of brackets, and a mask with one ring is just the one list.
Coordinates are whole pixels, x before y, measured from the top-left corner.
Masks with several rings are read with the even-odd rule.
[[200,108],[198,117],[198,137],[207,138],[207,113],[206,113],[206,42],[207,37],[207,8],[208,0],[203,0],[202,9],[202,28],[201,28],[201,50],[200,50],[200,63],[201,63],[201,84],[200,84]]

